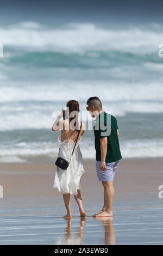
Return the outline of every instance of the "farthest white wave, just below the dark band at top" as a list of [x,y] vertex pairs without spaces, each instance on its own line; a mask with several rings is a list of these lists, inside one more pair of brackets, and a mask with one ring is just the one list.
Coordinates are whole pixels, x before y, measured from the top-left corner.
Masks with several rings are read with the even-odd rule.
[[[41,29],[40,29],[41,27]],[[0,28],[4,46],[23,47],[27,51],[40,50],[85,51],[120,50],[127,52],[152,52],[158,50],[163,31],[149,31],[139,27],[106,29],[95,24],[78,23],[65,28],[42,28],[34,22]]]

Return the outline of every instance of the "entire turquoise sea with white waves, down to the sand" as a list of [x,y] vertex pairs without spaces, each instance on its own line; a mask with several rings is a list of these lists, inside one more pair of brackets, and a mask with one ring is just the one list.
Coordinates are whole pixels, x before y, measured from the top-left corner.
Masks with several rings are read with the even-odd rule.
[[[0,25],[0,162],[57,156],[53,112],[76,99],[91,121],[82,111],[92,95],[117,118],[124,158],[162,157],[162,36],[159,24]],[[81,147],[95,157],[91,131]]]

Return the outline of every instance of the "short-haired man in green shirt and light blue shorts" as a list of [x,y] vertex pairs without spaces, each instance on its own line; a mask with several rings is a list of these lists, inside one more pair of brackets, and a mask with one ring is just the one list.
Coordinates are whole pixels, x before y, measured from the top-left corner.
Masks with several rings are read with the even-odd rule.
[[122,156],[119,144],[119,132],[116,118],[102,109],[102,102],[98,97],[87,100],[87,110],[91,117],[96,117],[95,134],[96,172],[98,180],[104,187],[104,205],[101,211],[93,217],[108,217],[112,215],[112,201],[114,199],[113,180],[115,169]]

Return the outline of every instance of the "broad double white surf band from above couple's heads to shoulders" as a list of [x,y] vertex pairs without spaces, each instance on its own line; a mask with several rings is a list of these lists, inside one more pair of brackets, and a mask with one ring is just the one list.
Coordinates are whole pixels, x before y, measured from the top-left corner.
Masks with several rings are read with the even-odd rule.
[[[62,81],[63,82],[63,81]],[[22,129],[51,129],[53,112],[59,114],[70,99],[80,104],[82,120],[90,120],[86,112],[86,100],[90,96],[100,96],[103,109],[116,117],[124,117],[128,113],[163,113],[162,84],[112,84],[109,82],[75,82],[64,81],[64,84],[39,86],[1,87],[0,94],[0,131]],[[60,93],[62,92],[62,93]],[[84,112],[82,112],[84,111]]]

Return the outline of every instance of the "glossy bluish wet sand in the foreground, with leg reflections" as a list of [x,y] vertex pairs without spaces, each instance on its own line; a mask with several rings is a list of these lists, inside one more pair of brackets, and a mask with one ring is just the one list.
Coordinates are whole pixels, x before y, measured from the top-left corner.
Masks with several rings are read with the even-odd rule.
[[[155,216],[155,217],[154,217]],[[162,209],[115,211],[115,216],[0,218],[0,245],[162,245]]]

